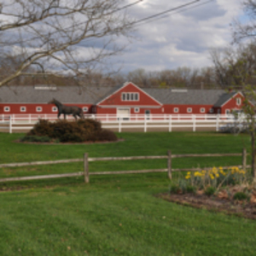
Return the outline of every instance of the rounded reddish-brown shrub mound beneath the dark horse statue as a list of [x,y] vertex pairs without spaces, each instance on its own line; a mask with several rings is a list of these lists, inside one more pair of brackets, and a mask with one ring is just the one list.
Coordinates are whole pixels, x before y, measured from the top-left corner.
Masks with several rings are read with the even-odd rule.
[[102,129],[102,124],[93,119],[79,119],[79,121],[39,120],[26,137],[49,137],[61,143],[82,143],[88,141],[117,141],[113,131]]

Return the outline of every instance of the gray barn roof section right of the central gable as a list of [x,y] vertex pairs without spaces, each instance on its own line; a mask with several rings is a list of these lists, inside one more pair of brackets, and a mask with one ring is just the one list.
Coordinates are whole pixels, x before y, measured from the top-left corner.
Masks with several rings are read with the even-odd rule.
[[163,104],[213,105],[218,102],[224,90],[174,90],[143,88],[149,95]]

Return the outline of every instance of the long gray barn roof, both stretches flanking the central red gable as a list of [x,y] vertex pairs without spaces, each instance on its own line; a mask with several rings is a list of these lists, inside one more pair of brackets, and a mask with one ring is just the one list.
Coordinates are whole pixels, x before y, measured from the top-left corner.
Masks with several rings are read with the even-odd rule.
[[[55,90],[36,90],[32,85],[2,86],[0,87],[0,103],[47,103],[53,97],[63,103],[96,104],[114,91],[116,87],[88,87],[58,86]],[[177,90],[142,88],[148,95],[162,104],[214,105],[221,106],[236,92],[226,93],[224,90]]]

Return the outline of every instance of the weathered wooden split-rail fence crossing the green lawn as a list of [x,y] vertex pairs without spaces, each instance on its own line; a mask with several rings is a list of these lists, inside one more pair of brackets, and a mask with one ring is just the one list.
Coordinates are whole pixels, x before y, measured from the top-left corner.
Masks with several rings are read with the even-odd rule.
[[[48,179],[48,178],[58,178],[58,177],[79,177],[84,176],[84,182],[90,183],[90,176],[92,175],[115,175],[115,174],[134,174],[134,173],[149,173],[149,172],[167,172],[167,175],[172,179],[172,172],[197,172],[201,171],[201,168],[183,168],[183,169],[173,169],[172,159],[173,158],[183,158],[183,157],[218,157],[218,156],[242,156],[241,166],[237,166],[246,170],[251,166],[247,166],[247,150],[243,148],[241,154],[172,154],[168,150],[167,155],[154,155],[154,156],[125,156],[125,157],[98,157],[89,158],[88,153],[84,154],[83,159],[71,159],[71,160],[53,160],[53,161],[37,161],[37,162],[24,162],[24,163],[11,163],[11,164],[1,164],[0,168],[4,167],[17,167],[17,166],[41,166],[41,165],[51,165],[51,164],[61,164],[61,163],[72,163],[84,161],[84,172],[72,172],[63,174],[51,174],[51,175],[38,175],[30,177],[5,177],[0,178],[0,183],[12,182],[12,181],[26,181],[26,180],[36,180],[36,179]],[[166,159],[167,168],[166,169],[150,169],[150,170],[140,170],[140,171],[117,171],[117,172],[89,172],[89,162],[93,161],[109,161],[109,160],[156,160],[156,159]],[[232,166],[223,166],[224,169],[231,168]],[[210,170],[212,168],[203,168],[204,170]]]

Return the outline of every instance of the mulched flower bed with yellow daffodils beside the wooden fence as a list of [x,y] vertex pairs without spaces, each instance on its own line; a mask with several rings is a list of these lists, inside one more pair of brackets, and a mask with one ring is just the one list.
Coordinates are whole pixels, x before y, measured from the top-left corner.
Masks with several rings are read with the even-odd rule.
[[249,172],[238,167],[187,172],[172,183],[170,193],[160,197],[192,207],[256,218],[256,184]]

